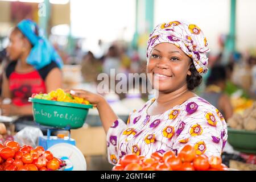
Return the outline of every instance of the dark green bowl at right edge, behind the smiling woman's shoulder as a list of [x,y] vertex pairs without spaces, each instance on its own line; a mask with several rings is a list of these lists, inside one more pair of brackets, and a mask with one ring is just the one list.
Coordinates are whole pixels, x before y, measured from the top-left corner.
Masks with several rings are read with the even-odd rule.
[[228,127],[228,142],[234,150],[256,154],[256,131],[237,130]]

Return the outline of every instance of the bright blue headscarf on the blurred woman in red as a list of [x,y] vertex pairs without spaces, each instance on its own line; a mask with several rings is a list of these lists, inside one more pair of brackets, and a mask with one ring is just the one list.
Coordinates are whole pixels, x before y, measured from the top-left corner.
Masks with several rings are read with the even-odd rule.
[[[32,20],[25,19],[18,23],[17,27],[32,44],[32,49],[27,57],[27,63],[34,66],[35,69],[41,69],[55,61],[59,68],[63,67],[63,61],[55,48],[44,37],[38,25]],[[36,35],[36,29],[38,35]]]

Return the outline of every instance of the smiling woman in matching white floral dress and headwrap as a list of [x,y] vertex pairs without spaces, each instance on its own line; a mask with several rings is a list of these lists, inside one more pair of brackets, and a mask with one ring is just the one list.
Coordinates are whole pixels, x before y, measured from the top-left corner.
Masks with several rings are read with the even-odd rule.
[[227,139],[226,122],[220,111],[192,90],[207,72],[207,39],[195,24],[173,21],[156,26],[147,47],[147,73],[157,96],[127,123],[118,119],[97,94],[73,90],[97,105],[107,133],[109,162],[126,154],[151,156],[189,144],[196,154],[220,156]]

